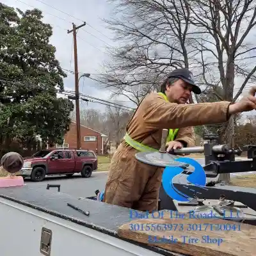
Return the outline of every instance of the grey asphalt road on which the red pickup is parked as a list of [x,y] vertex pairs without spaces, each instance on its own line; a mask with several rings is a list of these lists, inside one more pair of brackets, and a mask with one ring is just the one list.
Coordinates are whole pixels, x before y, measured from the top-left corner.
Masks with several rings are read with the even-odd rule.
[[[196,159],[198,163],[204,165],[204,159]],[[255,172],[250,172],[255,173]],[[231,173],[232,176],[235,175],[248,175],[248,173]],[[94,196],[95,190],[99,189],[102,191],[104,189],[108,173],[107,172],[93,172],[92,176],[88,179],[81,177],[81,175],[76,174],[71,178],[66,176],[52,176],[46,177],[42,182],[31,182],[31,180],[25,180],[26,186],[35,186],[35,188],[45,188],[47,184],[60,184],[60,191],[62,193],[67,193],[72,196],[77,197],[88,197]],[[211,179],[207,179],[210,181]],[[57,188],[50,188],[56,189]]]

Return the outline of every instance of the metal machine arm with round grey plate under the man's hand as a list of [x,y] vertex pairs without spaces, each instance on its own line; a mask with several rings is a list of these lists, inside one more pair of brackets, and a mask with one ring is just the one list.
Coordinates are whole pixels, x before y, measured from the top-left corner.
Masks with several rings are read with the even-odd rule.
[[[208,134],[202,147],[184,147],[166,152],[166,138],[168,130],[163,129],[161,148],[159,152],[138,152],[135,157],[139,161],[152,166],[165,168],[166,166],[179,166],[184,169],[184,173],[193,172],[193,168],[189,164],[182,161],[175,161],[180,154],[204,153],[206,177],[217,177],[220,173],[236,173],[236,172],[254,172],[256,171],[256,145],[247,145],[241,148],[230,148],[228,145],[219,145],[217,137],[214,134]],[[241,156],[242,152],[247,152],[247,161],[236,161],[235,156]]]

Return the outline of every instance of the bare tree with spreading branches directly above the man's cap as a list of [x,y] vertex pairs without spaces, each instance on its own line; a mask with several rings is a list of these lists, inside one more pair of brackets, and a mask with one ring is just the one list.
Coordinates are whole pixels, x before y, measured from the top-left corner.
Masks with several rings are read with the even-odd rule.
[[171,70],[189,67],[195,54],[188,38],[189,5],[181,0],[109,1],[116,4],[116,18],[105,21],[124,46],[110,51],[100,80],[115,89],[113,95],[138,105]]

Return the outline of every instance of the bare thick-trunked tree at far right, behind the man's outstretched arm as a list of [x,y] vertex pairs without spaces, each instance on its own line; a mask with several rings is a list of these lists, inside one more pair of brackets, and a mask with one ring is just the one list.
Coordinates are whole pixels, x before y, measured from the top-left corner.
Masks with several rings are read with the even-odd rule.
[[[220,100],[236,101],[246,84],[256,78],[256,65],[252,61],[256,57],[255,54],[253,56],[256,45],[249,38],[256,25],[256,1],[185,2],[191,10],[192,45],[200,51],[195,58],[202,67],[201,72],[198,70],[200,83],[213,90],[221,86],[223,95],[215,90],[216,96]],[[223,125],[221,134],[223,141],[231,143],[234,118]]]

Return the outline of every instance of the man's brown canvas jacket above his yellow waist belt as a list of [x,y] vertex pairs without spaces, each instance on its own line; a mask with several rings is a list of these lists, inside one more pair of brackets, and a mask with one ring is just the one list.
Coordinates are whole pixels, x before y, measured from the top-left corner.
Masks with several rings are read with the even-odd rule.
[[[185,141],[187,147],[195,145],[193,126],[218,124],[228,120],[227,109],[230,102],[202,104],[176,104],[166,102],[161,95],[151,93],[141,102],[127,125],[127,133],[148,147],[159,149],[163,129],[176,129],[176,141]],[[130,146],[122,141],[125,148]]]

